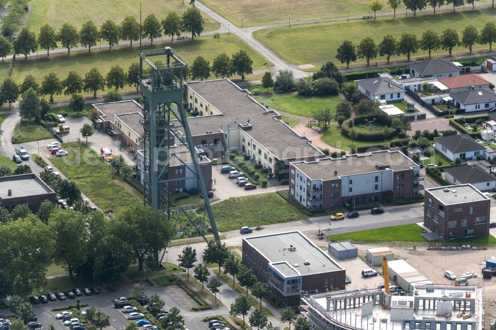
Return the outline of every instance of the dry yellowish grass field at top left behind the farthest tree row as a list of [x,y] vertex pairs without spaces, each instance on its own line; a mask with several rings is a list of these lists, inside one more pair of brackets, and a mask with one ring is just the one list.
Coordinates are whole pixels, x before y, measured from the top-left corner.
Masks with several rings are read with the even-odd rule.
[[[189,1],[161,0],[142,1],[142,18],[154,13],[161,21],[169,11],[177,11],[180,15],[189,6]],[[76,27],[92,20],[100,26],[108,19],[120,24],[126,15],[134,15],[139,21],[139,1],[132,0],[31,0],[29,3],[30,13],[26,26],[38,33],[44,24],[50,24],[59,29],[63,23],[70,22]],[[217,30],[220,24],[207,15],[205,20],[205,31]]]

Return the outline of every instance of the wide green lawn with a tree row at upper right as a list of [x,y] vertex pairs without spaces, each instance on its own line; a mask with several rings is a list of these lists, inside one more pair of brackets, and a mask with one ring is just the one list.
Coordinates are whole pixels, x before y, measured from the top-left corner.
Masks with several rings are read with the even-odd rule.
[[[322,1],[333,2],[333,1]],[[251,2],[250,2],[251,4]],[[248,5],[248,3],[247,3]],[[299,6],[306,7],[306,6]],[[381,17],[377,20],[351,20],[334,21],[316,24],[295,25],[291,29],[288,27],[277,27],[265,30],[255,31],[253,35],[256,39],[270,48],[276,55],[290,63],[297,65],[311,63],[320,65],[328,60],[339,64],[336,56],[336,49],[342,44],[343,40],[351,40],[355,45],[366,36],[373,36],[375,43],[379,43],[386,34],[392,34],[399,39],[403,32],[413,32],[417,38],[422,36],[423,31],[428,28],[441,33],[448,27],[455,27],[460,34],[461,31],[469,24],[475,25],[479,30],[487,22],[494,21],[494,17],[489,11],[465,10],[458,9],[455,13],[444,12],[442,14],[432,14],[416,16],[409,15],[408,18],[393,19]],[[314,45],[315,47],[302,47],[302,45]],[[475,45],[473,53],[488,52],[488,45]],[[468,49],[456,47],[453,49],[453,55],[468,54]],[[420,51],[413,54],[411,59],[424,57],[427,52]],[[433,55],[448,56],[443,50],[438,50]],[[406,56],[392,56],[392,61],[406,60]],[[385,63],[384,57],[374,59],[379,63]],[[372,62],[372,63],[373,63]],[[353,66],[365,65],[364,59],[359,59],[352,63]],[[345,66],[345,65],[344,65]]]

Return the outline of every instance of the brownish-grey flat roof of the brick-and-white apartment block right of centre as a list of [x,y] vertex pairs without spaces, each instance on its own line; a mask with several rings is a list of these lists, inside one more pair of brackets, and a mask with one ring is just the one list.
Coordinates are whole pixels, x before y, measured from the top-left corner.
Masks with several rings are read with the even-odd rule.
[[[378,169],[376,165],[388,165],[387,168],[393,171],[408,169],[419,166],[401,151],[375,151],[365,155],[347,155],[341,158],[321,158],[314,162],[293,162],[291,163],[310,180],[332,180],[342,176],[378,172],[385,169]],[[337,175],[334,170],[337,169]]]

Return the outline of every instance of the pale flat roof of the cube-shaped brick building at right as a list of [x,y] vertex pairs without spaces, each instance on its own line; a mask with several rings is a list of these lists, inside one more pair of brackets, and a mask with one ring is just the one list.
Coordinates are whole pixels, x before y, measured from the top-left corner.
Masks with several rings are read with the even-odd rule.
[[444,205],[489,200],[489,197],[471,184],[428,188],[426,191],[429,191]]

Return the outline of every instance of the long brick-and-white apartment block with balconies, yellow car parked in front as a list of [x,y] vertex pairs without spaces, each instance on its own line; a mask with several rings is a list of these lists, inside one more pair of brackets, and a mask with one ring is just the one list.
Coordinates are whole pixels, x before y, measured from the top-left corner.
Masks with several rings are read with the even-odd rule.
[[361,206],[382,202],[384,193],[393,200],[419,196],[420,165],[400,151],[376,151],[365,155],[324,158],[290,164],[290,194],[310,209],[336,209],[342,204]]

